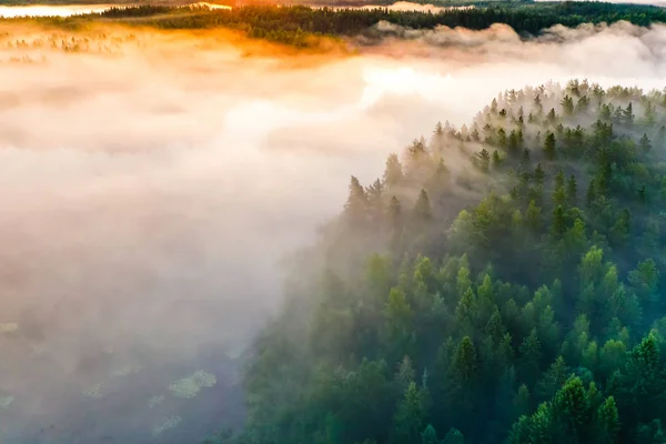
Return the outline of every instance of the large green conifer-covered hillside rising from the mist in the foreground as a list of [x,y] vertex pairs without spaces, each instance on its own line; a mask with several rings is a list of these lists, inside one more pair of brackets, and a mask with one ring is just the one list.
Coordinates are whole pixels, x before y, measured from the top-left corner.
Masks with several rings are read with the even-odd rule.
[[512,90],[352,176],[234,442],[666,442],[665,123],[666,92]]

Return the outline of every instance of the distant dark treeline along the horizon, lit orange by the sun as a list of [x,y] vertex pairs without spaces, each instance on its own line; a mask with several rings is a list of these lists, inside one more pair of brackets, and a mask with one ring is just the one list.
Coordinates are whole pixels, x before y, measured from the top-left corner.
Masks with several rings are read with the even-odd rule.
[[[128,20],[130,19],[130,20]],[[437,26],[480,30],[493,23],[506,23],[528,37],[554,24],[613,23],[625,20],[637,26],[666,22],[663,8],[599,2],[509,3],[497,2],[472,9],[448,9],[438,13],[394,11],[386,8],[332,9],[305,6],[244,6],[230,10],[208,7],[139,6],[111,8],[101,13],[67,18],[34,19],[43,23],[75,27],[90,20],[114,20],[128,24],[161,29],[231,28],[249,37],[296,47],[313,46],[316,36],[356,36],[380,21],[414,29]]]

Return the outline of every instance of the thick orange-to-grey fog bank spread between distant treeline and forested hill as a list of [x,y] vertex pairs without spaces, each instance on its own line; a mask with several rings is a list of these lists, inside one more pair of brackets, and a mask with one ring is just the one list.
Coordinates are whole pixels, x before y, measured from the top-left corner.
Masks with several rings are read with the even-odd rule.
[[[145,442],[129,432],[143,428],[183,442],[160,428],[176,407],[154,420],[149,401],[170,396],[173,372],[202,365],[232,390],[218,360],[242,353],[278,310],[283,259],[342,208],[351,174],[374,180],[389,153],[437,121],[468,122],[502,90],[576,77],[660,89],[666,73],[666,28],[627,23],[556,27],[532,41],[504,26],[380,23],[349,42],[356,56],[223,32],[3,30],[8,443],[56,442],[53,417],[70,416],[79,428],[67,436],[79,442],[109,436],[111,416],[123,443]],[[100,354],[111,367],[84,365]],[[109,383],[142,372],[131,396]],[[109,398],[112,415],[99,407]],[[224,415],[190,436],[239,421]]]

